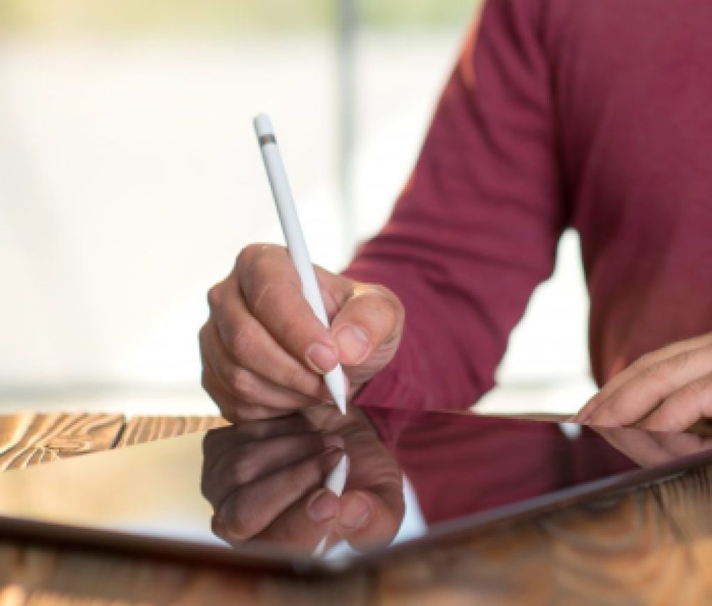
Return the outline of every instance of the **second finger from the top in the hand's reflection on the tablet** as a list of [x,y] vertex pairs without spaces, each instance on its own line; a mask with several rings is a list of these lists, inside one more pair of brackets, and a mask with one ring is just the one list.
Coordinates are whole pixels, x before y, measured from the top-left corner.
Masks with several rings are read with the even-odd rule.
[[330,448],[343,449],[344,440],[320,432],[293,434],[249,442],[223,451],[216,461],[206,459],[201,476],[203,495],[216,509],[235,489],[278,469],[293,465]]

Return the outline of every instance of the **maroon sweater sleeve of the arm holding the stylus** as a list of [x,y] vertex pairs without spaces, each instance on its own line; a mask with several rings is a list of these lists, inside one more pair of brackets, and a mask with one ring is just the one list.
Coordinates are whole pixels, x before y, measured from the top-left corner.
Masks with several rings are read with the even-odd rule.
[[553,270],[560,199],[545,2],[488,0],[394,212],[346,269],[404,304],[394,360],[356,401],[461,409]]

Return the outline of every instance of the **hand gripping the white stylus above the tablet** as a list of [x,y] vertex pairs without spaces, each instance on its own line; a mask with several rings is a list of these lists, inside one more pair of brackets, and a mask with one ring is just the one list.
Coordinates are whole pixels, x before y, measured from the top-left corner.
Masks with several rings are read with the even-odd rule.
[[387,288],[315,268],[331,328],[316,318],[281,246],[253,244],[208,293],[200,330],[203,387],[236,422],[330,402],[340,362],[352,395],[395,355],[404,312]]

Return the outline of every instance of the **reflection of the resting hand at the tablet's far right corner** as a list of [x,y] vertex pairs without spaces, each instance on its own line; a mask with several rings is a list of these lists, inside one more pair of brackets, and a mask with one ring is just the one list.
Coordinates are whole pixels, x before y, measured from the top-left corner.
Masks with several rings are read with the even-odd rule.
[[645,432],[630,427],[594,427],[614,448],[642,467],[653,467],[712,449],[712,439],[696,434]]

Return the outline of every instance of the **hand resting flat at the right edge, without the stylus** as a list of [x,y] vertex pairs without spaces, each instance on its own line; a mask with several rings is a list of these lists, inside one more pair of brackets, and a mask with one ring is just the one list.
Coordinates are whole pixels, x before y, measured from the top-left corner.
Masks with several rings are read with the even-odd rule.
[[710,417],[712,334],[644,355],[604,385],[571,421],[682,432]]

